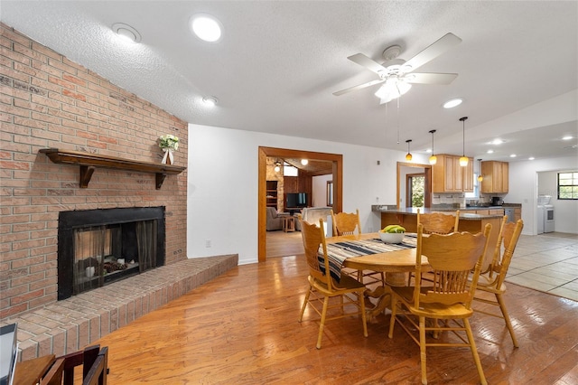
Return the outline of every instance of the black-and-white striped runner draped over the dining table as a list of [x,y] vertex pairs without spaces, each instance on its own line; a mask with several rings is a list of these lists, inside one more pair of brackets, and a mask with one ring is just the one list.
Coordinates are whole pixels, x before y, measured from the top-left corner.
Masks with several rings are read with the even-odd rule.
[[[327,256],[329,259],[329,268],[331,277],[339,282],[341,277],[341,268],[343,262],[347,258],[367,256],[370,254],[386,253],[388,251],[395,251],[401,249],[413,249],[416,246],[415,237],[404,237],[402,243],[385,243],[381,239],[364,239],[364,240],[347,240],[343,242],[328,243]],[[323,250],[320,246],[320,268],[322,271],[325,267],[322,265]]]

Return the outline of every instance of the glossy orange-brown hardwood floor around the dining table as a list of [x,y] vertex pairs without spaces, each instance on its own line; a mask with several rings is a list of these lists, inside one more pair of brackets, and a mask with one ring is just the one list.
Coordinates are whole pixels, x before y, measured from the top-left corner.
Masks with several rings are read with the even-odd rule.
[[[134,384],[417,384],[419,349],[389,315],[368,324],[330,321],[322,349],[319,324],[307,311],[303,257],[270,258],[233,268],[163,308],[110,333],[108,383]],[[474,315],[471,324],[490,384],[578,383],[578,303],[508,285],[507,304],[520,344],[501,320]],[[432,384],[476,384],[468,349],[428,350]]]

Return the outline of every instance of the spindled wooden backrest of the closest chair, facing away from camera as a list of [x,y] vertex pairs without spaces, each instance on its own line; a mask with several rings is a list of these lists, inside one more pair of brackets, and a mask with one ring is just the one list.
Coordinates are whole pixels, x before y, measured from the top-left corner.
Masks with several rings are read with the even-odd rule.
[[[491,225],[483,233],[453,232],[451,234],[429,234],[424,237],[424,225],[417,226],[417,249],[415,271],[415,307],[422,303],[445,305],[464,304],[471,306],[475,284],[480,276],[489,242]],[[427,291],[421,290],[421,258],[427,257],[433,279]],[[473,272],[473,273],[472,273]],[[469,278],[474,288],[469,285]]]

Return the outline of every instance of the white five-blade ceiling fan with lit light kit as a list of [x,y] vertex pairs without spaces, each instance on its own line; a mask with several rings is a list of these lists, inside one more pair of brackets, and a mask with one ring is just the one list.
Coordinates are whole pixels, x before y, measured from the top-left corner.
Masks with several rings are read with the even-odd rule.
[[392,45],[382,54],[383,58],[386,60],[383,64],[379,64],[377,61],[369,59],[368,56],[363,53],[356,53],[355,55],[349,56],[348,59],[377,73],[379,79],[371,80],[367,83],[359,84],[359,86],[350,87],[349,89],[341,89],[340,91],[333,92],[333,95],[340,96],[351,91],[365,89],[379,83],[385,83],[375,93],[375,95],[381,99],[380,104],[384,104],[404,95],[409,89],[411,89],[412,84],[414,83],[450,84],[455,78],[457,78],[457,73],[418,73],[414,72],[414,70],[423,66],[426,62],[432,61],[434,58],[460,42],[461,39],[458,36],[453,33],[446,33],[442,38],[433,42],[433,44],[425,48],[424,51],[419,52],[408,61],[397,59],[397,56],[401,52],[401,47],[399,45]]

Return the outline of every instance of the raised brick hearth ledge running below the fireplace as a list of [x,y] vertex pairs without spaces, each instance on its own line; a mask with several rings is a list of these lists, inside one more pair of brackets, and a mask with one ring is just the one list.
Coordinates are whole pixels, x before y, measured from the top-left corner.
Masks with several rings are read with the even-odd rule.
[[186,259],[8,320],[18,322],[20,360],[77,352],[237,265],[237,254]]

